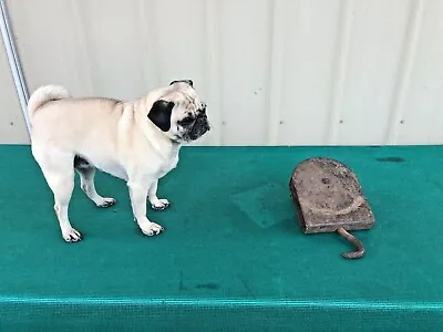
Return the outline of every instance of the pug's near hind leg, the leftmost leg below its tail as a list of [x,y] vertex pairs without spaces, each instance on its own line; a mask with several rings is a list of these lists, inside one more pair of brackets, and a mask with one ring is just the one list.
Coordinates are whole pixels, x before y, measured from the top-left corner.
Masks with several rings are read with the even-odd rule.
[[71,226],[68,216],[69,203],[74,188],[74,155],[55,148],[44,152],[33,149],[33,155],[54,195],[54,210],[63,239],[66,242],[80,241],[82,236]]

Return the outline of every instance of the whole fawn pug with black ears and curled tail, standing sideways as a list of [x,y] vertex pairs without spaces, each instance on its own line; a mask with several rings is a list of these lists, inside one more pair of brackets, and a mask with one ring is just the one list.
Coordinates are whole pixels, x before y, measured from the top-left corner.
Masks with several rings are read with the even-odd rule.
[[126,181],[134,220],[146,236],[164,229],[146,216],[166,209],[157,197],[158,179],[177,166],[183,144],[210,129],[193,81],[173,81],[135,101],[72,97],[66,89],[47,85],[30,97],[31,151],[54,196],[54,210],[62,237],[76,242],[82,235],[70,221],[68,207],[74,188],[74,170],[81,188],[97,206],[110,207],[114,198],[97,194],[95,169]]

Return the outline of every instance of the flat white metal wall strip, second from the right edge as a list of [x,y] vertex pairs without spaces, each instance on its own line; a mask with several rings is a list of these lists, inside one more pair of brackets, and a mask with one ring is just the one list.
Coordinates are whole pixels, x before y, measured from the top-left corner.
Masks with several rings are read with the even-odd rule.
[[[416,0],[412,0],[416,1]],[[411,6],[404,0],[349,2],[349,50],[332,141],[382,144]],[[401,69],[400,69],[401,70]]]

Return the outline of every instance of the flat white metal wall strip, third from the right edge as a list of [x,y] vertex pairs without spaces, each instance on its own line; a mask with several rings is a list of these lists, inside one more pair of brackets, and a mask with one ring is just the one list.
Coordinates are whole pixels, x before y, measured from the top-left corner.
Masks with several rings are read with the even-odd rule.
[[280,40],[275,46],[281,49],[281,55],[271,69],[280,72],[272,81],[272,143],[330,142],[332,93],[340,94],[337,89],[342,85],[338,82],[338,55],[343,43],[339,34],[343,4],[340,0],[280,2],[275,18],[275,35]]

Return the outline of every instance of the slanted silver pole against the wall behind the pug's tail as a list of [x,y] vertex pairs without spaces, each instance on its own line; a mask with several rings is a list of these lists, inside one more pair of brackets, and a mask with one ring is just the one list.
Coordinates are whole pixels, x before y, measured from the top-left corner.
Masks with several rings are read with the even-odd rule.
[[21,111],[23,112],[23,117],[27,123],[29,133],[31,129],[31,123],[28,116],[28,100],[29,100],[28,87],[24,82],[19,56],[16,50],[4,0],[0,0],[0,29],[1,29],[1,34],[3,37],[4,49],[7,50],[9,66],[11,69],[13,81],[16,84],[17,94],[20,100]]

